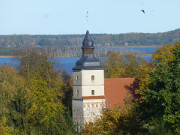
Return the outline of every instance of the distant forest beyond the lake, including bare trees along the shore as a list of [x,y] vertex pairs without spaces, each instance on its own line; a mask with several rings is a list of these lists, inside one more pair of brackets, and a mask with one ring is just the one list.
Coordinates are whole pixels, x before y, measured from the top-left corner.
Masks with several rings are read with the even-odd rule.
[[[180,29],[163,33],[91,34],[96,48],[128,46],[161,46],[180,40]],[[0,55],[16,55],[17,51],[31,49],[54,57],[76,57],[84,35],[0,35]],[[64,50],[71,52],[64,53]],[[75,53],[72,53],[72,51]],[[47,53],[48,52],[48,53]],[[76,54],[67,56],[67,54]]]

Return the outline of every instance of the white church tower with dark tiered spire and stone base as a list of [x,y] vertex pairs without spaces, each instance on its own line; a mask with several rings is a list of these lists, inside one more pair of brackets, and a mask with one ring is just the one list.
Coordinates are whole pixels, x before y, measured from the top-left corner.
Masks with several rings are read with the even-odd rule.
[[101,115],[105,107],[104,68],[94,56],[94,45],[87,30],[82,57],[73,67],[72,113],[74,124],[84,126]]

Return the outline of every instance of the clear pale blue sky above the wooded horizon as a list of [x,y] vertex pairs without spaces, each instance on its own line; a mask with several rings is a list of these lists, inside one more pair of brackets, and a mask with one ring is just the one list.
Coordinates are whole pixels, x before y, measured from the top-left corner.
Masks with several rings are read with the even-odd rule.
[[[0,0],[0,35],[157,33],[180,28],[180,0]],[[141,11],[144,10],[145,14]]]

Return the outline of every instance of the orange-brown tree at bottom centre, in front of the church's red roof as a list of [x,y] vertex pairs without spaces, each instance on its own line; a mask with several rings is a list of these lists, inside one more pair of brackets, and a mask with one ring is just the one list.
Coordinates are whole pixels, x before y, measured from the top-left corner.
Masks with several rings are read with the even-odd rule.
[[128,102],[118,105],[114,109],[106,108],[101,118],[93,123],[86,123],[84,134],[137,134],[141,130],[141,123],[134,110],[134,104]]

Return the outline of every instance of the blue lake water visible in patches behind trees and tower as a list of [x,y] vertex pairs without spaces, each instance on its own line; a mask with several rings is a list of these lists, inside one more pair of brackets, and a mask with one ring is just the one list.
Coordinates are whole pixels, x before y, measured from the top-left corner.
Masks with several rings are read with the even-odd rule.
[[[126,48],[126,47],[124,47]],[[126,49],[134,49],[138,51],[143,51],[146,54],[152,54],[155,52],[156,49],[159,47],[127,47]],[[141,56],[143,59],[147,61],[151,61],[151,56]],[[68,57],[68,58],[52,58],[51,61],[54,64],[55,70],[63,69],[69,72],[72,75],[72,68],[75,65],[76,61],[79,60],[79,57]],[[103,58],[100,58],[102,61]],[[19,66],[19,61],[16,58],[0,58],[0,65],[7,64],[10,66]]]

